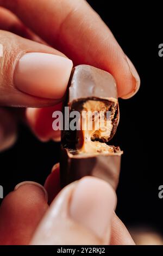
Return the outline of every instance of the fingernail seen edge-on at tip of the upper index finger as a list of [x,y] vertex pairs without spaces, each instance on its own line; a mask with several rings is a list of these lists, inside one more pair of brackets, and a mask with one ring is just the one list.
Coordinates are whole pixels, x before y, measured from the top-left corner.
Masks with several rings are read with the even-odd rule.
[[133,89],[131,90],[130,93],[128,93],[127,95],[122,96],[122,99],[129,99],[130,97],[133,97],[140,88],[140,77],[139,77],[139,75],[138,75],[138,73],[135,69],[135,66],[133,65],[133,63],[131,62],[131,60],[127,56],[126,56],[126,60],[127,60],[130,72],[131,72],[131,74],[133,76],[133,79],[134,79],[134,87],[133,87]]

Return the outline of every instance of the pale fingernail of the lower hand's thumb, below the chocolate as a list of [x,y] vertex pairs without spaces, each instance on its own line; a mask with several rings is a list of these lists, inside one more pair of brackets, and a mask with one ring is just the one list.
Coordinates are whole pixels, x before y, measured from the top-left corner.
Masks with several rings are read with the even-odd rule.
[[99,238],[103,238],[109,229],[115,205],[115,192],[108,183],[86,177],[74,189],[70,216]]

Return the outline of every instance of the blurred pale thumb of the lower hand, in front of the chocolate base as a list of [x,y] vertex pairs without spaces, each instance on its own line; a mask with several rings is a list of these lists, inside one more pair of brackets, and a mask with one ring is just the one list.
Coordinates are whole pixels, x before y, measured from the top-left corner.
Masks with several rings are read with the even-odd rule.
[[112,187],[103,180],[87,176],[58,194],[30,244],[108,244],[115,205]]

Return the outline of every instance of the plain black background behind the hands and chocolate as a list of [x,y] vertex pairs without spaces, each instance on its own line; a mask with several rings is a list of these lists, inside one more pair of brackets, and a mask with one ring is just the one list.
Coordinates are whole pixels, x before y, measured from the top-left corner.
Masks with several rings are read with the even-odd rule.
[[[88,1],[101,15],[115,38],[136,66],[141,78],[139,92],[120,100],[121,120],[111,144],[124,151],[117,190],[117,215],[127,225],[148,225],[163,230],[162,204],[158,187],[163,184],[161,149],[161,92],[163,57],[161,7],[132,2],[120,6],[110,1]],[[59,143],[39,142],[21,126],[18,141],[0,154],[0,185],[4,195],[23,180],[43,184],[59,159]]]

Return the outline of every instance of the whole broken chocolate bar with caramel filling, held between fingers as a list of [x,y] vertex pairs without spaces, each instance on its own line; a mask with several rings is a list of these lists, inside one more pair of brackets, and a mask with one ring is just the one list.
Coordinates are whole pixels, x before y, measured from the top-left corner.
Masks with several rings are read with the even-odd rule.
[[[66,119],[64,125],[69,129],[61,134],[61,186],[93,175],[116,188],[122,151],[109,145],[119,121],[114,77],[93,66],[76,66],[70,77],[65,106],[69,107],[70,119]],[[76,129],[71,129],[76,113]]]

